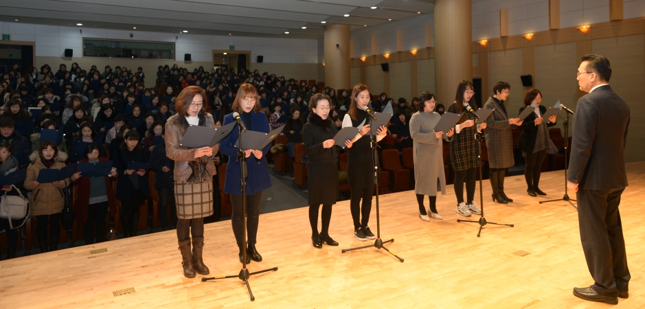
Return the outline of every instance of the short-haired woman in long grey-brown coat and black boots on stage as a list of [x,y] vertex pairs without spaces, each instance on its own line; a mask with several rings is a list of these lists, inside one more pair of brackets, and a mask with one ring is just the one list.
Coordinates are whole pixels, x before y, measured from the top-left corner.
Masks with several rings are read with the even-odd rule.
[[490,186],[493,187],[493,202],[507,204],[513,200],[504,193],[504,176],[506,168],[515,165],[513,158],[512,129],[522,125],[519,118],[509,118],[504,102],[510,95],[508,82],[497,82],[493,87],[493,95],[488,98],[484,108],[495,109],[493,115],[486,119],[486,149],[488,149],[488,164],[490,170]]

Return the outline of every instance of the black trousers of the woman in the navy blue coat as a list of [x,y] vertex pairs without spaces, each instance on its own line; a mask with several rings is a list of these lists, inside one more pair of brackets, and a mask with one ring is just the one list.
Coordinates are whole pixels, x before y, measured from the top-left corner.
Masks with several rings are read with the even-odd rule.
[[[238,247],[242,246],[242,229],[244,213],[242,213],[242,195],[229,194],[231,204],[233,204],[233,214],[231,215],[231,225],[233,225],[233,234],[238,242]],[[260,222],[260,203],[262,203],[262,191],[256,192],[256,195],[247,195],[247,242],[249,244],[257,243],[258,223]]]

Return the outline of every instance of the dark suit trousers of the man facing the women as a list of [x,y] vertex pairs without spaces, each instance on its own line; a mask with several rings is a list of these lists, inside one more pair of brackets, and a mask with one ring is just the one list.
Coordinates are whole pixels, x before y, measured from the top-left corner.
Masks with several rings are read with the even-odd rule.
[[580,240],[595,282],[593,289],[608,297],[629,290],[631,278],[618,211],[624,190],[579,190],[577,194]]

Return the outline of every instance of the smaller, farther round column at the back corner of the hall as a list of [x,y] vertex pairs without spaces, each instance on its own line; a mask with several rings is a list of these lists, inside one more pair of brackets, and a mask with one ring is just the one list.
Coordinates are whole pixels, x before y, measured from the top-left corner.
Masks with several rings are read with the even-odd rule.
[[[350,89],[350,26],[325,26],[325,86]],[[336,45],[339,47],[336,47]]]

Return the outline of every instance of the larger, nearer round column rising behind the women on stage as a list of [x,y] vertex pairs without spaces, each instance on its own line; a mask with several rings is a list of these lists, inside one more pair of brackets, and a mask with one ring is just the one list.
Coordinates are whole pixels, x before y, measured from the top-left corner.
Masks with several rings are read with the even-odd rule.
[[457,84],[473,80],[471,0],[435,0],[435,84],[438,102],[455,101]]

